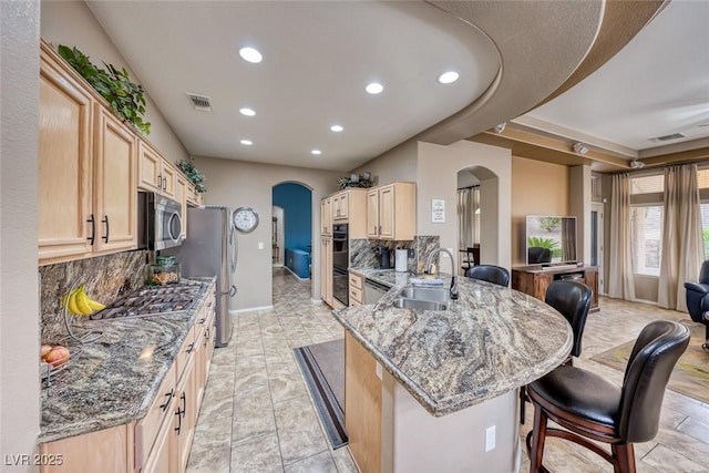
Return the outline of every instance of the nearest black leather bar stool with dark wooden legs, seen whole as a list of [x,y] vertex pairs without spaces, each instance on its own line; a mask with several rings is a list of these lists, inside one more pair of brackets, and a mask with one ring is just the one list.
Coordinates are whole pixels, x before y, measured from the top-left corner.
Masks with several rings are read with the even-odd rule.
[[[528,384],[534,404],[534,429],[526,439],[530,472],[547,471],[542,464],[544,441],[556,436],[592,450],[617,473],[634,473],[633,444],[657,434],[667,382],[688,345],[687,327],[656,320],[633,347],[623,388],[567,364]],[[547,428],[548,419],[564,429]],[[590,440],[609,443],[610,453]]]

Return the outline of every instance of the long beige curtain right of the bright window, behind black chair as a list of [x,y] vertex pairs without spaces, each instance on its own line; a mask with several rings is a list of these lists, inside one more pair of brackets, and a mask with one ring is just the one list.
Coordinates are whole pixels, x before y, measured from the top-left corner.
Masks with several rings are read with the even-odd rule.
[[697,165],[665,169],[665,220],[657,304],[687,311],[685,281],[697,280],[703,259]]

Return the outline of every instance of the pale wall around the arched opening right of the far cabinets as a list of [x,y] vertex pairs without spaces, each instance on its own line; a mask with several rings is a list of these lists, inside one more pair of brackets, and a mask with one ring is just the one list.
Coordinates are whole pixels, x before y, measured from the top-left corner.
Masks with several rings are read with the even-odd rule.
[[[489,169],[481,178],[481,260],[511,267],[512,155],[510,150],[460,141],[448,146],[419,142],[417,162],[417,234],[440,235],[441,246],[458,250],[458,173],[470,167]],[[496,188],[496,192],[495,192]],[[494,196],[496,194],[496,198]],[[431,222],[431,199],[445,200],[445,223]],[[494,215],[485,218],[485,208]],[[495,222],[496,220],[496,222]],[[485,245],[487,245],[485,247]],[[460,259],[458,251],[456,265]],[[442,270],[448,271],[445,264]]]

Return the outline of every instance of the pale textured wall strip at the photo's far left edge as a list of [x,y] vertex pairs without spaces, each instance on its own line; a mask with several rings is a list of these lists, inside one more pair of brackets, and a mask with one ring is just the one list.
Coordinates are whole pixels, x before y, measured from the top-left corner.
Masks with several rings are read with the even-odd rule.
[[[37,452],[40,429],[37,270],[39,1],[0,1],[0,454]],[[31,457],[31,456],[30,456]]]

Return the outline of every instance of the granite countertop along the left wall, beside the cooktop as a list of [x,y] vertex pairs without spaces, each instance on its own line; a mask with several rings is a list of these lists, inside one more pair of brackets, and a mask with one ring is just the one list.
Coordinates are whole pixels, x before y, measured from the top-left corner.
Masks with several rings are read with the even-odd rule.
[[72,330],[102,331],[97,341],[69,343],[66,369],[42,383],[39,443],[95,432],[142,419],[157,394],[216,278],[204,282],[192,309],[164,316],[76,322]]

